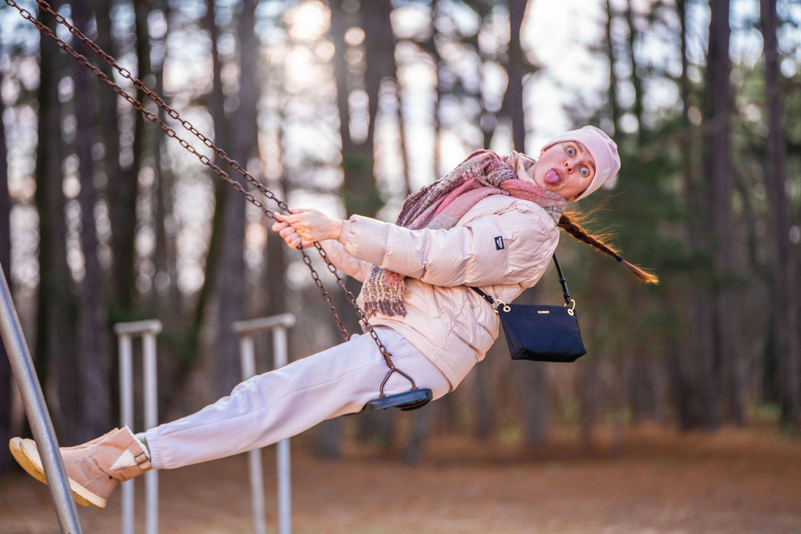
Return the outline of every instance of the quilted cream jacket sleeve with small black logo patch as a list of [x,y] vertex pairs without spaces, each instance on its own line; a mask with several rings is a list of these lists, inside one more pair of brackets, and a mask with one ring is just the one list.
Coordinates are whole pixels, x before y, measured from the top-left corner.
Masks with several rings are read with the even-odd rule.
[[447,230],[409,230],[353,215],[339,241],[357,259],[434,286],[528,287],[550,261],[558,239],[553,219],[531,204]]

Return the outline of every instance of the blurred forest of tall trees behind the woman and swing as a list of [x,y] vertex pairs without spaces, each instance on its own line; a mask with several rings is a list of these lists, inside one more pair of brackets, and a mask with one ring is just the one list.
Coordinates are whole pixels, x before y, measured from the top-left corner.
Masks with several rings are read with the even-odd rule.
[[[618,180],[580,207],[602,203],[596,227],[614,231],[626,259],[654,269],[661,285],[642,286],[563,236],[588,355],[513,363],[501,335],[453,394],[421,411],[321,424],[318,455],[369,440],[413,463],[437,435],[533,444],[557,424],[588,448],[611,428],[613,456],[626,429],[646,420],[797,432],[801,3],[51,6],[290,206],[394,220],[409,192],[477,148],[536,156],[549,137],[586,123],[618,143]],[[0,263],[61,444],[119,420],[114,323],[165,324],[160,420],[238,381],[232,321],[292,311],[292,359],[340,341],[300,254],[268,231],[271,221],[5,4],[0,76]],[[550,268],[518,302],[560,297]],[[264,335],[260,371],[269,347]],[[30,432],[12,383],[2,357],[0,444]],[[9,467],[0,446],[0,472]]]

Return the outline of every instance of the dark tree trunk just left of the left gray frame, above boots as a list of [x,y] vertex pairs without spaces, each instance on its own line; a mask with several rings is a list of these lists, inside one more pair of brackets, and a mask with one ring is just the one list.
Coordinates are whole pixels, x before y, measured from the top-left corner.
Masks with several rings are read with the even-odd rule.
[[[83,0],[72,2],[75,26],[86,31],[90,13]],[[76,50],[84,55],[88,50]],[[81,383],[81,411],[83,424],[79,439],[91,440],[108,432],[111,424],[109,359],[104,345],[106,332],[103,280],[98,262],[98,235],[95,225],[95,183],[92,143],[95,139],[92,127],[91,72],[73,63],[74,110],[78,119],[75,136],[75,152],[78,155],[81,191],[78,203],[81,207],[81,249],[83,250],[84,277],[81,283],[81,309],[78,327],[78,369]]]

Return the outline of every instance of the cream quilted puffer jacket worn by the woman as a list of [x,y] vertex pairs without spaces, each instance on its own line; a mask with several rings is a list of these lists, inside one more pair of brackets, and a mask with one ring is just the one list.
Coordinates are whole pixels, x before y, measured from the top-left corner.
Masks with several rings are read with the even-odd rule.
[[537,283],[558,241],[556,223],[536,203],[489,195],[448,230],[353,215],[338,242],[321,244],[340,271],[361,282],[373,264],[407,276],[406,316],[377,313],[370,323],[403,335],[453,389],[498,335],[497,315],[469,286],[512,302]]

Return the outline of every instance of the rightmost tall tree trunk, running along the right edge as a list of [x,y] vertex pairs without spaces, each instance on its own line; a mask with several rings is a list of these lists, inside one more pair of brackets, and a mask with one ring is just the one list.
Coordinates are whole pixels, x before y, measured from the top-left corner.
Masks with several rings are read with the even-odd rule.
[[779,384],[782,399],[781,421],[798,425],[801,419],[801,350],[799,350],[798,264],[790,243],[790,214],[787,191],[787,155],[782,123],[782,87],[779,80],[779,29],[776,0],[760,0],[763,50],[765,53],[765,98],[768,110],[767,191],[774,214],[776,236],[775,280],[778,299],[774,300],[779,337]]

